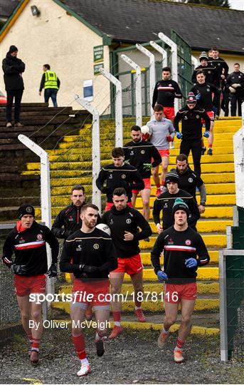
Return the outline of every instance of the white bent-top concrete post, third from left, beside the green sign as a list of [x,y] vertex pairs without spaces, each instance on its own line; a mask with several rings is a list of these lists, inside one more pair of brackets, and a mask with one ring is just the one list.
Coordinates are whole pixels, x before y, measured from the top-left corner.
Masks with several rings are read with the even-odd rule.
[[116,86],[116,96],[115,96],[115,147],[123,147],[123,114],[122,114],[122,85],[112,73],[105,71],[104,68],[100,68],[100,73],[102,73],[105,78],[107,78],[111,83]]

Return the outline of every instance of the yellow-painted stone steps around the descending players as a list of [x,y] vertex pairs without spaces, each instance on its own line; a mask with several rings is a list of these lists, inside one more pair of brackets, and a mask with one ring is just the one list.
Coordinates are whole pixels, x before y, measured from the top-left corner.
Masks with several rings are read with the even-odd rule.
[[[147,122],[144,119],[144,123]],[[134,124],[133,120],[124,120],[124,143],[129,140],[129,128]],[[208,247],[211,262],[206,267],[198,269],[198,299],[196,301],[196,311],[193,314],[194,327],[192,332],[200,334],[216,334],[219,332],[219,296],[218,296],[218,250],[226,247],[226,225],[233,224],[233,208],[235,205],[235,183],[234,183],[234,165],[233,165],[233,133],[241,126],[241,120],[238,118],[226,118],[216,121],[215,139],[213,147],[213,156],[204,155],[201,158],[202,179],[206,185],[207,202],[206,211],[198,221],[198,232],[203,236],[204,242]],[[80,137],[83,140],[80,140]],[[102,165],[110,163],[110,151],[115,143],[114,123],[102,121],[101,123],[101,160]],[[83,183],[88,196],[92,183],[91,176],[91,148],[90,148],[90,125],[85,125],[80,130],[79,135],[68,135],[63,138],[62,143],[56,150],[49,151],[51,158],[51,193],[52,193],[52,215],[58,212],[70,202],[69,190],[74,183]],[[72,151],[68,149],[71,148]],[[65,155],[62,155],[65,152]],[[169,158],[169,168],[174,167],[176,155],[179,154],[179,140],[175,140],[175,148],[171,150]],[[82,162],[81,162],[82,160]],[[68,164],[67,164],[68,163]],[[192,158],[189,157],[189,164],[192,166]],[[38,164],[28,163],[27,170],[22,175],[34,173],[38,175]],[[156,188],[152,188],[152,197],[150,199],[151,207],[154,202]],[[198,197],[199,199],[199,197]],[[142,210],[142,200],[137,198],[137,209]],[[40,209],[37,209],[37,215],[40,216]],[[147,302],[143,303],[147,322],[140,324],[134,317],[132,302],[133,287],[128,276],[125,276],[123,293],[128,293],[127,301],[123,304],[124,314],[122,321],[124,326],[131,328],[161,328],[162,286],[157,282],[151,261],[150,251],[157,238],[156,227],[152,222],[152,212],[150,216],[150,225],[153,235],[150,242],[140,241],[142,250],[142,261],[144,264],[144,291],[155,292],[154,301],[149,294]],[[66,276],[68,281],[68,274]],[[59,292],[70,292],[70,284],[60,287]],[[147,293],[146,293],[147,294]],[[55,309],[65,310],[69,313],[69,304],[66,302],[53,303]],[[178,325],[179,326],[179,325]],[[178,327],[176,325],[175,329]]]

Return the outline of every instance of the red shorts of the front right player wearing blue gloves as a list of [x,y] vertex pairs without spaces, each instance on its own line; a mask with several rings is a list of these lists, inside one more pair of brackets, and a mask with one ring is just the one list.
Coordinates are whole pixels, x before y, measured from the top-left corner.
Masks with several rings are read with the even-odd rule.
[[181,299],[196,299],[197,287],[196,282],[189,284],[165,284],[164,287],[164,302],[170,304],[179,304]]

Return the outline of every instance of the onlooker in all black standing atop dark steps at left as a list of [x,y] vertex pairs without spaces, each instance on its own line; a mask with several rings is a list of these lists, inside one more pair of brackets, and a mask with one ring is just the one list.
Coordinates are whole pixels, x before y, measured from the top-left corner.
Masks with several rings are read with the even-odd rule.
[[12,106],[14,103],[14,125],[23,127],[19,121],[21,112],[21,98],[23,95],[23,78],[22,73],[25,71],[26,65],[17,58],[18,48],[10,46],[9,52],[6,54],[2,62],[4,71],[4,83],[7,93],[6,104],[6,127],[12,127]]

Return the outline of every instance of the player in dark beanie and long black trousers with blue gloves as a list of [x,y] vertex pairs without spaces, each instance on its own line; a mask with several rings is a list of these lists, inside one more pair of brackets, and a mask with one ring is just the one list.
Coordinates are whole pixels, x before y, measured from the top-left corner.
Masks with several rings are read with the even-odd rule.
[[[181,133],[179,132],[179,122],[181,121]],[[209,137],[210,118],[204,108],[198,107],[196,96],[190,92],[186,98],[186,106],[176,113],[174,118],[174,128],[176,137],[181,139],[180,153],[189,156],[191,151],[194,171],[201,175],[201,148],[202,148],[202,127],[205,122],[205,133],[203,136]]]

